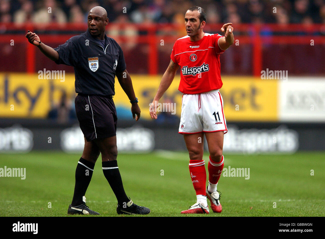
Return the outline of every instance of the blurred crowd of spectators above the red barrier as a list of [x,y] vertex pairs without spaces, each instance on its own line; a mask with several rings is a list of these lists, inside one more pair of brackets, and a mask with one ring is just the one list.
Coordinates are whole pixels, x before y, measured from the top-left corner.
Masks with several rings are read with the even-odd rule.
[[178,23],[194,5],[208,23],[325,23],[325,0],[0,0],[0,22],[82,23],[102,6],[110,22]]

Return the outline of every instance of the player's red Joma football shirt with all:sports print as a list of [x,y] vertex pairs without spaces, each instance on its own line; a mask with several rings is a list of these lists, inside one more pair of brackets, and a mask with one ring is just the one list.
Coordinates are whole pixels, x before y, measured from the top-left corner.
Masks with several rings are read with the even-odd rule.
[[222,86],[219,56],[224,53],[218,44],[219,34],[205,33],[199,41],[189,36],[176,40],[170,58],[181,67],[178,90],[184,94],[199,94]]

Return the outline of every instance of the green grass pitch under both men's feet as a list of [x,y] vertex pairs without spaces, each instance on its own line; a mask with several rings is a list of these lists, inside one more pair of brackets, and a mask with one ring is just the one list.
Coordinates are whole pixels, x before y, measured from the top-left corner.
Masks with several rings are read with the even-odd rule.
[[[80,156],[35,151],[1,154],[0,168],[26,168],[26,179],[0,178],[0,216],[68,216]],[[119,153],[118,164],[127,195],[136,204],[149,207],[148,216],[325,216],[325,152],[224,156],[224,168],[250,168],[250,178],[222,175],[218,191],[223,211],[217,214],[210,208],[209,215],[180,214],[196,202],[188,153]],[[206,168],[208,158],[204,154]],[[85,196],[87,206],[100,216],[118,216],[100,157]]]

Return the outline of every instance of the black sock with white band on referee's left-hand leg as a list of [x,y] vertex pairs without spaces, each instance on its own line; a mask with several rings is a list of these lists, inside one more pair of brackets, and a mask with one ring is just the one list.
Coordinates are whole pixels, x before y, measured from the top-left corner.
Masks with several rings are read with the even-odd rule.
[[90,183],[91,177],[93,176],[95,164],[89,162],[83,158],[79,159],[76,168],[76,183],[74,185],[74,193],[72,198],[72,206],[79,206],[82,204],[82,196],[85,195],[88,185]]

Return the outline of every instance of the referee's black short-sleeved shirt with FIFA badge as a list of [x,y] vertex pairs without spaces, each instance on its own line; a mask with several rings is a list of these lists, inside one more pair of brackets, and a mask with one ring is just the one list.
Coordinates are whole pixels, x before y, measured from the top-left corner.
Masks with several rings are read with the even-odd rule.
[[123,72],[126,64],[123,51],[113,38],[105,34],[103,48],[87,29],[54,50],[59,53],[55,63],[73,66],[76,93],[115,95],[115,72]]

